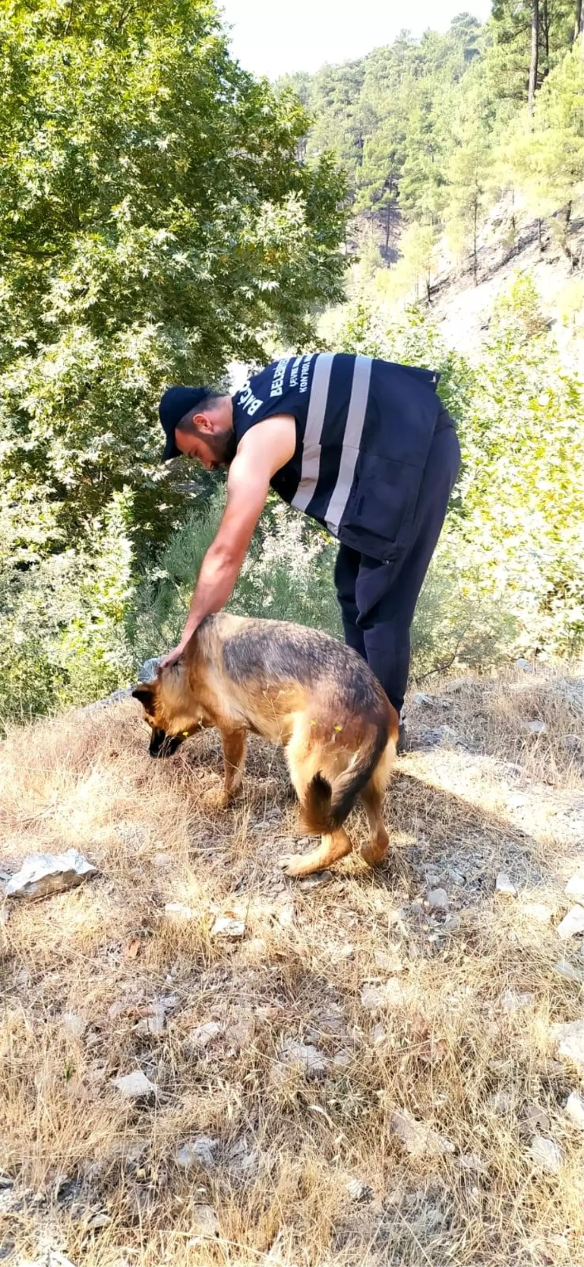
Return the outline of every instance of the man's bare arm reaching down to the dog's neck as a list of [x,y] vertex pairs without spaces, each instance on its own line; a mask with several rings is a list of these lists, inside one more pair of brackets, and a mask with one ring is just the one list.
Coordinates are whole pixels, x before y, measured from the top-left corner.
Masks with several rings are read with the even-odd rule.
[[161,666],[174,664],[205,616],[225,606],[266,503],[271,476],[290,460],[295,443],[291,414],[266,418],[243,436],[229,468],[223,518],[201,563],[181,640]]

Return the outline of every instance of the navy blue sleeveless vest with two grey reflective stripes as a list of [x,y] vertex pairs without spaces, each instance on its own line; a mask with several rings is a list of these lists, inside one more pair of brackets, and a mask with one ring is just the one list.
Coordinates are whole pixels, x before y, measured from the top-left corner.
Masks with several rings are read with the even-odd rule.
[[286,357],[233,397],[236,441],[265,418],[293,414],[296,449],[272,488],[345,545],[390,561],[408,542],[442,411],[437,381],[431,370],[369,356]]

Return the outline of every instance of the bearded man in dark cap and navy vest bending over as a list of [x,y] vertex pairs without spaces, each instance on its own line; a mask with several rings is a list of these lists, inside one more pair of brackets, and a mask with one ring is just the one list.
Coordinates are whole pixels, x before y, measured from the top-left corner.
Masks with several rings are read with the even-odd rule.
[[186,454],[229,474],[219,531],[163,665],[227,603],[271,485],[338,538],[345,640],[402,713],[409,628],[460,465],[437,381],[429,370],[327,352],[276,361],[233,398],[165,392],[162,460]]

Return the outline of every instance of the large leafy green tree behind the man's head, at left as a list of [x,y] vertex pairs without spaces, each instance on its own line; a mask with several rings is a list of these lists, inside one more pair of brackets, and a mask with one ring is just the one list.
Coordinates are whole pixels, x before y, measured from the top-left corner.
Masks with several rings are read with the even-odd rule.
[[71,540],[130,485],[143,547],[182,499],[160,392],[310,341],[342,182],[298,162],[304,109],[229,58],[210,0],[8,0],[0,43],[6,495]]

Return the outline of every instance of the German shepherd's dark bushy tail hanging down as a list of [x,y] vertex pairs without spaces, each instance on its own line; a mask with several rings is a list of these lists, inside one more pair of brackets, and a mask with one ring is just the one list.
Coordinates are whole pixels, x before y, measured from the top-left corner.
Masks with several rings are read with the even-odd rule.
[[310,779],[302,811],[312,835],[331,835],[345,822],[359,793],[369,783],[388,740],[388,725],[371,727],[366,742],[359,749],[347,769],[332,783],[321,773]]

